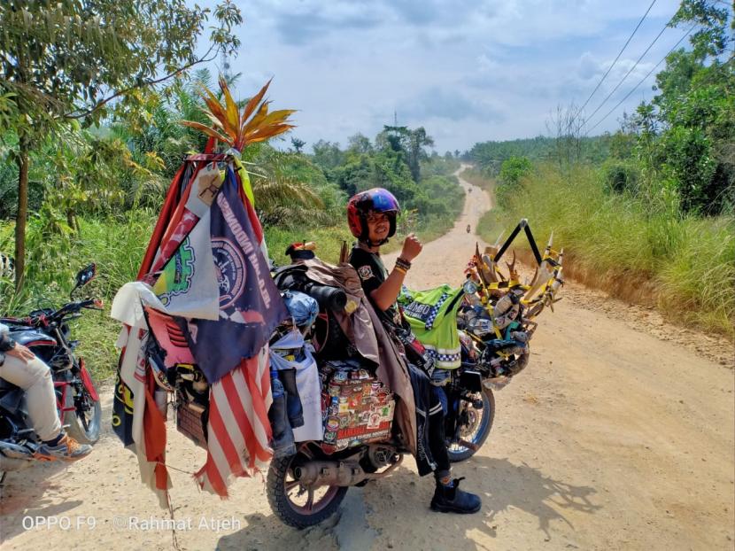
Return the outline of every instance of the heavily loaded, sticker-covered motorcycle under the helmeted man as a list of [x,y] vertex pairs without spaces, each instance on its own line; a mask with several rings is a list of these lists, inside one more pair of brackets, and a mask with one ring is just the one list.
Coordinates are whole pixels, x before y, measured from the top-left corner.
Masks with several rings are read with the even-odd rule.
[[[355,356],[354,347],[332,314],[335,310],[347,309],[343,291],[310,282],[306,268],[298,265],[276,270],[275,283],[282,292],[304,292],[319,305],[319,314],[308,336],[321,377],[324,438],[298,442],[295,453],[275,454],[267,472],[267,499],[275,516],[284,524],[304,529],[332,516],[344,500],[349,486],[365,485],[370,480],[389,476],[401,464],[408,450],[391,431],[392,415],[388,421],[380,417],[369,419],[368,423],[374,423],[373,426],[379,430],[375,432],[375,438],[365,438],[364,434],[360,438],[349,438],[348,435],[349,441],[340,441],[342,444],[337,446],[334,440],[329,441],[341,429],[346,428],[347,433],[351,430],[352,425],[340,424],[344,419],[341,399],[352,400],[355,396],[352,391],[342,392],[345,385],[352,382],[354,388],[362,389],[355,391],[359,397],[357,404],[372,400],[373,396],[367,394],[367,389],[375,390],[377,385],[379,393],[381,385],[369,375],[369,366]],[[485,301],[480,308],[476,305],[478,292],[491,288],[490,283],[480,289],[468,281],[460,289],[462,300],[458,304],[462,314],[457,319],[458,331],[460,326],[463,328],[460,333],[461,365],[453,370],[448,382],[441,387],[446,398],[445,434],[448,435],[447,445],[453,462],[467,459],[483,445],[495,414],[493,385],[507,384],[507,380],[525,367],[524,361],[528,360],[527,354],[524,359],[516,357],[514,353],[518,351],[507,343],[498,347],[497,343],[488,340],[483,333],[486,324],[474,321],[492,316],[491,307],[497,301]],[[545,300],[553,301],[553,294],[544,296]],[[520,312],[536,315],[539,311],[535,300],[527,302],[518,312],[514,310],[518,318],[514,321],[515,332],[531,330]],[[493,328],[492,323],[490,327]],[[271,344],[292,329],[282,327],[276,330]],[[514,337],[521,338],[519,335]],[[522,348],[515,340],[513,343],[515,348]],[[497,361],[495,354],[498,352],[502,353],[501,361]],[[204,374],[197,366],[189,364],[178,364],[167,370],[156,368],[164,363],[160,357],[156,358],[156,353],[149,353],[149,361],[154,372],[159,374],[157,378],[161,386],[174,392],[177,429],[198,446],[206,447],[209,385]],[[275,388],[274,385],[272,387]],[[336,392],[332,392],[333,388]],[[395,404],[391,404],[390,399],[380,403],[392,414]],[[348,409],[346,403],[344,409]],[[359,406],[351,415],[364,413],[368,417],[375,415],[361,412]],[[273,422],[271,424],[273,426]]]

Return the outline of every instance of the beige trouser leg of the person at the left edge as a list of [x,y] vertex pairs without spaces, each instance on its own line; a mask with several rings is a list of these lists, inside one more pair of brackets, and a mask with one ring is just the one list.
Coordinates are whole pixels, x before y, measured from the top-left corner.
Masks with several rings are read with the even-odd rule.
[[44,441],[57,438],[61,433],[61,421],[49,367],[38,358],[26,362],[5,354],[0,378],[26,391],[28,417],[38,438]]

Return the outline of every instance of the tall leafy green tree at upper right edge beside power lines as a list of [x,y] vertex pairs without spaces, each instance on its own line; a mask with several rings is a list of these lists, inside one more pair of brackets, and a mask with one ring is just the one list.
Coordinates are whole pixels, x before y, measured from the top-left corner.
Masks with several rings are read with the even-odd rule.
[[696,29],[656,75],[658,94],[638,107],[638,158],[673,182],[685,212],[735,206],[735,44],[722,3],[684,0],[672,27]]

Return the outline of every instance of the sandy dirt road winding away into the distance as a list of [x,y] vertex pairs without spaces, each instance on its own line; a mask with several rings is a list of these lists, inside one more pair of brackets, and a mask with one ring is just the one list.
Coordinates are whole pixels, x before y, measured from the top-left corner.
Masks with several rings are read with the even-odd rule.
[[[414,261],[410,286],[459,283],[476,240],[467,224],[474,230],[489,207],[484,192],[469,193],[453,231]],[[733,549],[735,371],[708,359],[731,364],[732,350],[574,283],[562,293],[539,318],[529,368],[496,394],[488,442],[455,467],[481,494],[480,513],[429,511],[432,481],[408,459],[390,479],[351,489],[341,516],[297,532],[272,516],[260,478],[238,479],[228,501],[198,492],[186,473],[205,455],[171,428],[169,463],[186,471],[172,471],[179,547]],[[708,357],[696,352],[702,343]],[[4,549],[172,547],[167,528],[143,529],[168,514],[107,428],[111,403],[107,388],[105,433],[89,459],[9,475]],[[33,528],[35,516],[71,527]]]

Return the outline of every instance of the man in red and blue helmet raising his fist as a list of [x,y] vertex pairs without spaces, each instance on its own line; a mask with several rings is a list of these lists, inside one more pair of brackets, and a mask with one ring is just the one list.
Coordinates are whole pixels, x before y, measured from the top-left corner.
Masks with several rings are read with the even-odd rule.
[[[411,261],[422,251],[422,244],[414,234],[406,237],[403,249],[391,273],[383,266],[380,257],[381,245],[396,233],[396,217],[400,212],[398,200],[383,188],[358,193],[347,204],[347,220],[352,235],[358,243],[352,248],[350,264],[360,275],[360,283],[370,303],[375,307],[385,329],[396,336],[404,330],[404,322],[396,305],[406,271]],[[446,450],[444,409],[439,400],[437,387],[429,384],[429,377],[413,363],[408,363],[411,383],[417,406],[419,434],[427,434],[428,450],[419,446],[419,473],[434,471],[437,487],[431,500],[435,511],[452,513],[476,513],[482,505],[479,496],[463,492],[459,488],[461,478],[452,479],[449,454]],[[421,412],[429,412],[422,420]],[[428,427],[422,430],[422,425]],[[422,468],[422,465],[425,467]]]

